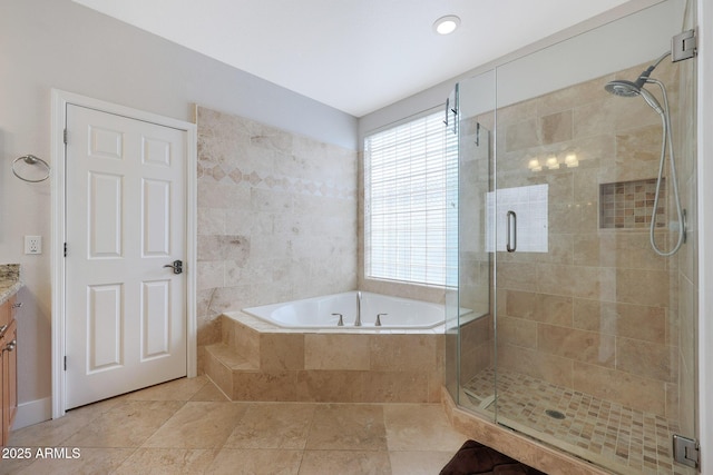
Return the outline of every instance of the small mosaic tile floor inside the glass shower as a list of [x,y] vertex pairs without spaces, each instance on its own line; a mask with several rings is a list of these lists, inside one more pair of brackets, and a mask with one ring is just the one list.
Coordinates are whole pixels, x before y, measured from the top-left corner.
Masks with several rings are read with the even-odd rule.
[[[496,404],[489,404],[494,378],[492,369],[478,374],[465,386],[461,404],[495,412]],[[616,472],[696,473],[672,461],[672,436],[678,433],[675,420],[515,373],[498,374],[497,403],[499,420],[512,422],[517,429],[535,429],[538,438],[555,445],[565,443],[569,452],[600,465],[604,462]],[[548,409],[565,417],[547,415]],[[611,465],[612,461],[616,465]]]

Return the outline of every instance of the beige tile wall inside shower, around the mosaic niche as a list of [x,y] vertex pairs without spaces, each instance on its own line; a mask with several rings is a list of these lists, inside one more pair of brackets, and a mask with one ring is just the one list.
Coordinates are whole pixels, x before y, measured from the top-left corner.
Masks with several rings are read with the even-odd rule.
[[[498,362],[677,418],[678,359],[686,359],[678,349],[678,259],[655,255],[647,229],[598,225],[600,184],[658,171],[658,115],[641,98],[604,90],[607,81],[636,77],[645,66],[498,110],[498,187],[549,185],[548,253],[497,256]],[[666,61],[655,76],[666,83],[677,117],[678,67]],[[565,165],[570,154],[578,166]],[[548,157],[559,169],[528,168]],[[672,240],[657,232],[661,247]]]

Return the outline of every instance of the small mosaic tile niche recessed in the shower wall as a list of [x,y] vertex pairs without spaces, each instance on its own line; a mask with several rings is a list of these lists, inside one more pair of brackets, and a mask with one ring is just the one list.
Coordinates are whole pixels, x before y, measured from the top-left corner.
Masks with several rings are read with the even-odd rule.
[[[656,196],[656,179],[599,185],[599,228],[638,229],[651,226]],[[663,179],[656,227],[666,224],[666,179]]]

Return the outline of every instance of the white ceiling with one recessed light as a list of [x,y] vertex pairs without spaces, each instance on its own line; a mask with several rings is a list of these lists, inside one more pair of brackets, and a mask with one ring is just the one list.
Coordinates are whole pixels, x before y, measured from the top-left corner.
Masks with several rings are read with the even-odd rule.
[[[355,117],[627,0],[75,0]],[[461,18],[450,36],[433,32]]]

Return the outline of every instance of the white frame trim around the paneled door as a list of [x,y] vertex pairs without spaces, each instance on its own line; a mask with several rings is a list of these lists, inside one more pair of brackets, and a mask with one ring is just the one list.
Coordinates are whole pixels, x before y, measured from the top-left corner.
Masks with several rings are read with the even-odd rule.
[[75,105],[102,112],[170,127],[186,132],[186,372],[188,377],[197,375],[197,318],[196,318],[196,207],[197,207],[197,128],[195,123],[158,116],[111,102],[67,92],[51,90],[51,289],[52,289],[52,418],[65,415],[65,333],[66,333],[66,184],[67,157],[65,123],[67,106]]

